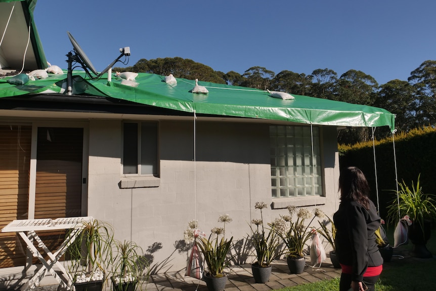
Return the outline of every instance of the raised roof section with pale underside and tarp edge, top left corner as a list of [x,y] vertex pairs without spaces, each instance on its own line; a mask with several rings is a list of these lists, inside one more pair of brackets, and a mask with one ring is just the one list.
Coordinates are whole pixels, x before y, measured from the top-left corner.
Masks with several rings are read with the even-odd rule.
[[36,0],[0,0],[0,69],[20,71],[23,68],[28,71],[47,68],[47,59],[33,21],[35,5]]

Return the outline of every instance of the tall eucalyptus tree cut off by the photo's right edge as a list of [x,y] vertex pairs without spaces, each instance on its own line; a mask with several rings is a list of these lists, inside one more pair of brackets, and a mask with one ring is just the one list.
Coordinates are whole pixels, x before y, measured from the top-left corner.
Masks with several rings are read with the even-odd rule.
[[436,124],[436,61],[425,61],[410,73],[408,81],[416,89],[416,118],[420,126]]

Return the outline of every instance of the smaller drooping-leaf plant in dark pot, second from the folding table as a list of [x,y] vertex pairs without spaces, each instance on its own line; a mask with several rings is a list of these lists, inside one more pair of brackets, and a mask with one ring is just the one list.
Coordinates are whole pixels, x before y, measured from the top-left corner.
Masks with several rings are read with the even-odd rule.
[[112,264],[112,289],[134,291],[147,267],[142,248],[133,241],[114,241],[115,255]]

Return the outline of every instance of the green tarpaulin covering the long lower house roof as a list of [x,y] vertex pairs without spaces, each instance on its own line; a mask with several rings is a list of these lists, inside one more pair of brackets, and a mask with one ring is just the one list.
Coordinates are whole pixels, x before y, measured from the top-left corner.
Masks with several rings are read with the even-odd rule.
[[[176,85],[167,84],[165,76],[139,73],[137,87],[122,85],[123,79],[107,73],[91,80],[84,72],[73,72],[73,94],[100,96],[138,104],[197,114],[282,120],[307,124],[347,127],[395,128],[395,115],[385,109],[345,102],[293,95],[294,99],[271,97],[267,91],[201,82],[208,94],[192,93],[194,80],[177,78]],[[46,79],[12,85],[8,78],[0,79],[0,98],[65,94],[67,75],[50,74]],[[1,106],[1,105],[0,105]],[[0,108],[2,109],[2,108]]]

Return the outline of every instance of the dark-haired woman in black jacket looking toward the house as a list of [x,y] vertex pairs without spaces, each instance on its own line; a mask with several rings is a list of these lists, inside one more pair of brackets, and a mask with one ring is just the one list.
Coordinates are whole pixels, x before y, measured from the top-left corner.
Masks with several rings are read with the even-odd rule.
[[336,254],[342,267],[339,291],[374,290],[383,259],[375,242],[380,217],[369,199],[365,175],[356,167],[343,169],[339,176],[340,204],[333,215]]

